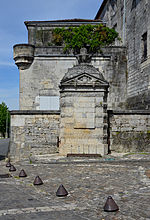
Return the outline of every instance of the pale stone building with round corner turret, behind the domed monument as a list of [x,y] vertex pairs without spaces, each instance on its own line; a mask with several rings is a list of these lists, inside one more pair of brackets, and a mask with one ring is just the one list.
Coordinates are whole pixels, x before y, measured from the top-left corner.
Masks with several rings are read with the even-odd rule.
[[[78,63],[73,53],[53,45],[52,31],[56,27],[100,24],[95,20],[28,21],[28,44],[14,46],[14,60],[20,72],[20,110],[40,110],[40,98],[58,96],[59,84],[68,68]],[[114,46],[93,56],[91,64],[99,68],[110,83],[109,108],[123,108],[126,101],[126,48]],[[120,94],[118,96],[118,93]]]

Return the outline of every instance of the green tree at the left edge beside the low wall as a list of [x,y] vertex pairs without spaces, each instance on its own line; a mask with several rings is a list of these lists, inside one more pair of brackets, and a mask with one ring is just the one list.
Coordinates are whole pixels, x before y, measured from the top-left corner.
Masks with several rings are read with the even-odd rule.
[[[0,132],[2,133],[3,137],[6,135],[9,130],[10,126],[10,114],[7,105],[2,102],[0,104]],[[6,128],[7,127],[7,128]]]

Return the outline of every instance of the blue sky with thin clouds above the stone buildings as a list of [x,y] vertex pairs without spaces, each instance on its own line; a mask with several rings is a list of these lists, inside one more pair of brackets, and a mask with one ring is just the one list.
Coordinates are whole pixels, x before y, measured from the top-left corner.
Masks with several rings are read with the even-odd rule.
[[2,0],[0,5],[0,103],[19,109],[19,70],[13,45],[28,43],[24,21],[94,19],[102,0]]

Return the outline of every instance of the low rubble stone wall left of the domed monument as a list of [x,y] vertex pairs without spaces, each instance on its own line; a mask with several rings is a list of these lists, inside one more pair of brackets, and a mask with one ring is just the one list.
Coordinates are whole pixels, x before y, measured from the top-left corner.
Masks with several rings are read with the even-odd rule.
[[54,111],[11,111],[11,158],[58,152],[59,118]]

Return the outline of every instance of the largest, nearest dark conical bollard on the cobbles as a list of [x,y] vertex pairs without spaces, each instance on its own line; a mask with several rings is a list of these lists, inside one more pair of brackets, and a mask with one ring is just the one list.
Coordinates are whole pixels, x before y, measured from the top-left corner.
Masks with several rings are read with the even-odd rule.
[[117,206],[113,198],[111,196],[108,196],[106,203],[104,205],[104,211],[105,212],[116,212],[118,210],[119,210],[119,207]]

